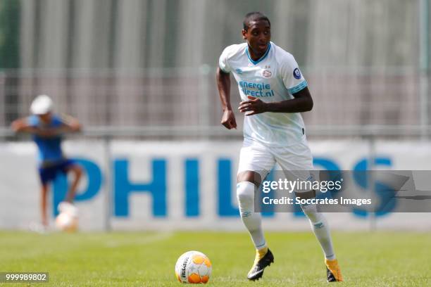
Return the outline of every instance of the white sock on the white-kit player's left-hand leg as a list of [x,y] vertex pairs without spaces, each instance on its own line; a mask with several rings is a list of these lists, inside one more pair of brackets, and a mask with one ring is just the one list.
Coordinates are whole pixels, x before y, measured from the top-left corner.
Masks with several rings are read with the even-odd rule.
[[237,199],[239,213],[246,229],[249,230],[251,240],[256,249],[266,247],[265,237],[262,231],[261,213],[254,212],[254,189],[256,186],[249,181],[241,181],[237,184]]

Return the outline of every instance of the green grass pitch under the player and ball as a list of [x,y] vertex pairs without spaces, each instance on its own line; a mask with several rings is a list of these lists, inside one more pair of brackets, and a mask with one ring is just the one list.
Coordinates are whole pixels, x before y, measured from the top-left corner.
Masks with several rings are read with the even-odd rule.
[[[334,232],[344,283],[337,286],[431,286],[431,234]],[[249,235],[226,232],[31,234],[0,231],[0,272],[49,272],[49,283],[0,286],[182,286],[182,253],[210,258],[207,286],[327,286],[323,254],[311,232],[267,233],[275,263],[248,282]]]

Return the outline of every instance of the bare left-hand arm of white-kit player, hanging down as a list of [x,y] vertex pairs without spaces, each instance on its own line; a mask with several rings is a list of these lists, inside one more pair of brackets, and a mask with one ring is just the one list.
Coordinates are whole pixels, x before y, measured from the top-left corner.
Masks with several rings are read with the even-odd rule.
[[218,94],[220,95],[223,108],[221,124],[227,129],[236,129],[237,122],[235,120],[235,114],[230,105],[230,73],[223,72],[219,67],[215,74],[217,78]]

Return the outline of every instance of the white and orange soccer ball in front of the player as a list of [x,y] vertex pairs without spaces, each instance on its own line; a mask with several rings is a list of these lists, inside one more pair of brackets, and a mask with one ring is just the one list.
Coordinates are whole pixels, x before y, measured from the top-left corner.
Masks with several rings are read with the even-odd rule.
[[175,276],[182,283],[206,283],[211,276],[211,262],[204,253],[188,251],[175,264]]

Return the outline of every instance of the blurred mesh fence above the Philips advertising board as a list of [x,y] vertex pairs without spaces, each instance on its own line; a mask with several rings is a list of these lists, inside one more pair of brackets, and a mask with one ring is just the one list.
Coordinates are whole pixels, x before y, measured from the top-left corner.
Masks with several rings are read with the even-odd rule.
[[[174,139],[176,131],[193,129],[203,136],[220,134],[214,69],[6,70],[0,73],[0,128],[27,115],[37,94],[49,94],[56,111],[78,117],[87,128],[109,127],[106,134],[113,136],[112,131],[124,129],[165,130]],[[314,101],[304,119],[320,134],[322,129],[330,135],[339,134],[338,128],[357,132],[379,125],[382,130],[405,127],[399,128],[401,135],[420,127],[420,135],[428,135],[429,88],[418,70],[304,68],[304,74]],[[236,107],[240,100],[233,80],[231,90]],[[241,129],[239,113],[237,123]]]

